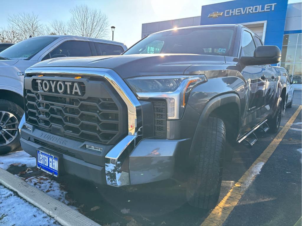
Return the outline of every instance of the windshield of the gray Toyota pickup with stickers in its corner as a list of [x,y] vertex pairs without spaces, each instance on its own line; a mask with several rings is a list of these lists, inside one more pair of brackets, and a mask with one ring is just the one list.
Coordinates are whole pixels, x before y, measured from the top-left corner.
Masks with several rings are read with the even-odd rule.
[[230,54],[233,27],[190,28],[156,33],[142,39],[124,55],[152,53]]

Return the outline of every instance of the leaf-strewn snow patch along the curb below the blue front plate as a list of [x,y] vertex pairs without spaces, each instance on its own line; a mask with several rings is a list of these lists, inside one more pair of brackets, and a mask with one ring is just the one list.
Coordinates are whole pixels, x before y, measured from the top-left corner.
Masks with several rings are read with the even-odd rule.
[[59,201],[69,204],[69,201],[66,200],[66,191],[63,187],[54,180],[50,180],[47,177],[30,177],[25,180],[28,184],[36,187],[37,189],[47,193],[49,196],[58,199]]

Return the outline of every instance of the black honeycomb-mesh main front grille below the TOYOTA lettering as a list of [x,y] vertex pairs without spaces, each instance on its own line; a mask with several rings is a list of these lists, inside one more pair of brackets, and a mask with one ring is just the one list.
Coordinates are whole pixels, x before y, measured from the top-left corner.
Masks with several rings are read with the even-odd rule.
[[[31,83],[31,89],[24,89],[28,123],[59,136],[102,144],[114,144],[125,134],[124,127],[121,126],[125,120],[125,114],[122,114],[124,103],[119,102],[119,96],[68,96],[38,91],[35,79],[28,83]],[[108,86],[104,82],[102,85],[99,89]],[[81,86],[87,94],[88,87],[84,83]],[[108,90],[112,93],[108,92],[113,96],[115,93],[112,89],[109,87]]]

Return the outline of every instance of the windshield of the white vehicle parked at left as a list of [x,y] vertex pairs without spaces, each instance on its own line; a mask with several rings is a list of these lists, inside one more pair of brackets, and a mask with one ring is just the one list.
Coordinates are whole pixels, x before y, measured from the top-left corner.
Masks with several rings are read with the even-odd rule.
[[0,52],[0,60],[29,60],[57,37],[39,37],[25,39]]

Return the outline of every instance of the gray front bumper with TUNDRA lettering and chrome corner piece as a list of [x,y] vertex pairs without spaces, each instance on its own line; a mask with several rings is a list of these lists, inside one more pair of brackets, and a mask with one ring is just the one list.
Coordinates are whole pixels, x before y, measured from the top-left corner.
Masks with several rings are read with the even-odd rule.
[[[31,131],[24,125],[31,127]],[[190,142],[188,139],[144,139],[137,144],[135,136],[126,136],[111,149],[98,152],[83,148],[86,142],[59,137],[27,123],[20,129],[20,142],[25,152],[37,157],[36,150],[44,149],[59,156],[60,175],[72,174],[97,184],[116,187],[171,178],[177,153]]]

